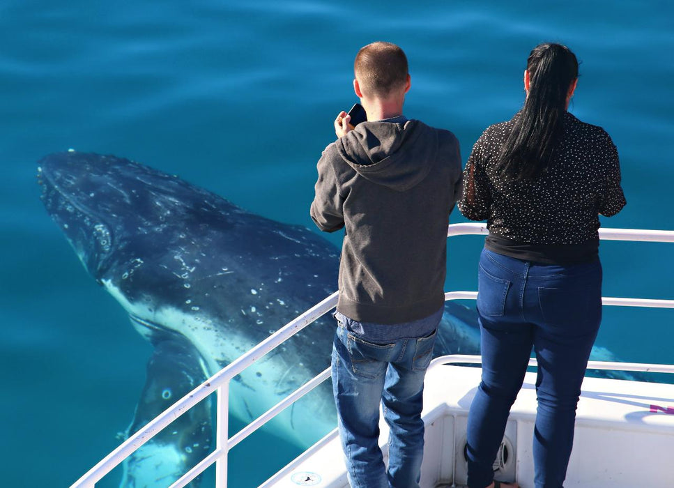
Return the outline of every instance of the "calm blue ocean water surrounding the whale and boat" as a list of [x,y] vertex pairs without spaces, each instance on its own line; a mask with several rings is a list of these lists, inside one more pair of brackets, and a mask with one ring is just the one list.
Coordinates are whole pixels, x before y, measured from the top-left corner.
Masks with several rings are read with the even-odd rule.
[[[125,156],[313,229],[315,163],[355,102],[358,48],[405,49],[406,115],[452,130],[465,162],[482,130],[521,106],[529,50],[556,40],[582,61],[572,112],[620,152],[628,204],[603,225],[674,229],[672,19],[673,3],[634,0],[3,1],[1,484],[66,487],[116,447],[151,354],[40,203],[43,155]],[[475,289],[481,245],[449,243],[447,290]],[[604,295],[673,298],[671,252],[602,243]],[[672,363],[673,325],[671,310],[605,307],[597,344]],[[230,486],[254,487],[296,454],[256,436],[234,449]]]

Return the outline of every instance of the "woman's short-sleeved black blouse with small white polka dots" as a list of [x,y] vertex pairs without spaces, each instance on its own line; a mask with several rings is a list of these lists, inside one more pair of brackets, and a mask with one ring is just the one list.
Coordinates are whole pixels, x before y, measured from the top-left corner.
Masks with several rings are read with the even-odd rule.
[[557,155],[538,178],[512,181],[496,174],[498,152],[514,119],[489,126],[464,169],[459,210],[487,219],[489,233],[520,243],[581,244],[599,238],[599,213],[625,206],[618,151],[606,131],[565,114]]

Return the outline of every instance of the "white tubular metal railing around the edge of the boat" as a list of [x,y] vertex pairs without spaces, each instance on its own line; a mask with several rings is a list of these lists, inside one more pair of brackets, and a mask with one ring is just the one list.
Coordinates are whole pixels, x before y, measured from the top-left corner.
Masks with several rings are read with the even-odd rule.
[[[447,228],[447,237],[461,236],[461,235],[487,235],[487,227],[480,223],[461,223],[450,224]],[[599,238],[611,241],[644,241],[644,242],[660,242],[660,243],[674,243],[674,231],[659,231],[646,229],[599,229]],[[211,376],[200,386],[194,388],[190,393],[185,395],[174,403],[169,409],[158,415],[155,419],[148,422],[147,425],[139,429],[138,432],[132,434],[126,441],[118,446],[109,455],[101,459],[98,464],[93,466],[86,474],[79,478],[77,482],[71,485],[71,488],[93,488],[95,483],[101,480],[107,473],[112,471],[118,464],[121,464],[124,459],[132,455],[144,443],[153,438],[164,427],[167,427],[171,422],[176,420],[191,409],[193,406],[206,399],[208,395],[217,392],[217,413],[216,413],[216,434],[215,434],[215,450],[206,456],[194,468],[187,471],[179,480],[174,482],[170,488],[180,488],[187,485],[189,482],[197,478],[203,473],[206,468],[215,463],[215,487],[227,487],[227,458],[229,450],[234,445],[243,441],[247,436],[252,434],[256,429],[266,424],[269,420],[274,418],[278,413],[283,411],[287,406],[293,404],[302,396],[306,395],[313,388],[328,379],[330,376],[330,369],[325,369],[321,374],[316,376],[311,381],[305,383],[295,392],[273,406],[271,409],[263,413],[253,420],[249,425],[240,430],[236,435],[229,438],[229,382],[234,376],[240,374],[244,369],[259,360],[266,353],[272,351],[277,346],[288,340],[290,337],[300,332],[303,328],[319,319],[323,314],[331,310],[337,305],[338,292],[325,298],[320,303],[314,305],[303,314],[301,314],[293,321],[289,322],[283,328],[280,328],[275,333],[270,335],[266,340],[254,346],[250,351],[243,354],[232,363],[224,367],[219,372]],[[474,300],[477,297],[476,291],[450,291],[445,293],[445,300]],[[654,307],[654,308],[674,308],[674,300],[652,300],[645,298],[602,298],[604,305],[620,305],[629,307]],[[329,351],[326,351],[326,355]],[[461,358],[461,361],[454,361],[459,363],[479,363],[480,356],[445,356],[444,358],[437,358],[438,360],[445,360],[446,358]],[[535,359],[532,360],[535,365]],[[674,365],[647,365],[640,363],[606,363],[603,361],[590,361],[589,369],[611,369],[624,371],[643,371],[643,372],[668,372],[674,373]]]

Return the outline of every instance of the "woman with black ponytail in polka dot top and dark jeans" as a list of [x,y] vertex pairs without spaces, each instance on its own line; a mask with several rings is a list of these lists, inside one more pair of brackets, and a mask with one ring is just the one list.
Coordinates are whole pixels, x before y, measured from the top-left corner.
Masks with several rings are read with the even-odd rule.
[[464,169],[459,210],[487,220],[478,266],[482,381],[468,415],[468,487],[492,463],[532,348],[538,359],[535,486],[562,487],[576,404],[602,317],[599,213],[625,206],[618,151],[606,131],[567,112],[578,61],[544,43],[524,72],[526,101],[491,125]]

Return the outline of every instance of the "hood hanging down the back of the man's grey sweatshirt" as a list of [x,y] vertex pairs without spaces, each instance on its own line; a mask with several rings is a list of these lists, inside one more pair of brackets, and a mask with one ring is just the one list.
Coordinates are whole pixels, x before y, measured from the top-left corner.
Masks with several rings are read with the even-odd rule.
[[403,192],[431,170],[438,131],[415,120],[363,122],[337,140],[337,151],[363,178]]

